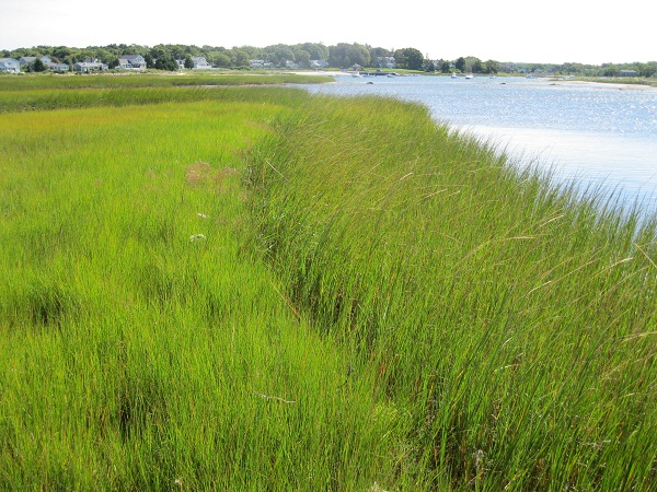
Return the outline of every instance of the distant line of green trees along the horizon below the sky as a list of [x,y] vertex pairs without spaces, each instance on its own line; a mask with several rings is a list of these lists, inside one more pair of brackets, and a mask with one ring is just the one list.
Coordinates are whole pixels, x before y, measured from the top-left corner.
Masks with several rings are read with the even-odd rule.
[[43,57],[48,56],[54,61],[73,65],[88,59],[99,59],[115,68],[123,55],[141,55],[147,67],[160,70],[177,70],[176,60],[185,60],[191,67],[192,57],[205,57],[216,68],[246,68],[250,60],[263,60],[272,67],[285,68],[293,62],[300,68],[310,68],[311,60],[324,60],[332,68],[381,68],[382,59],[392,57],[395,68],[424,70],[428,72],[462,72],[488,73],[498,72],[544,72],[579,74],[590,77],[618,77],[622,70],[634,70],[638,77],[656,77],[657,61],[633,63],[603,63],[601,66],[583,63],[520,63],[500,62],[497,60],[481,60],[473,56],[457,59],[429,59],[416,48],[383,48],[358,43],[338,43],[326,46],[321,43],[301,43],[296,45],[277,44],[265,47],[235,46],[196,46],[196,45],[142,45],[112,44],[106,46],[89,46],[73,48],[67,46],[36,46],[2,50],[3,57]]

